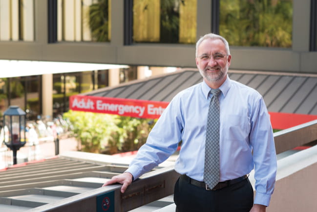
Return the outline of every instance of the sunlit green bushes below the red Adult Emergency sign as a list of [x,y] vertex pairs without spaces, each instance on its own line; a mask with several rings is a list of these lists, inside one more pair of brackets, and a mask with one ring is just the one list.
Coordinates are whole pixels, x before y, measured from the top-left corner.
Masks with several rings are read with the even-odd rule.
[[151,119],[76,111],[64,113],[63,118],[71,122],[83,151],[108,154],[137,150],[154,125]]

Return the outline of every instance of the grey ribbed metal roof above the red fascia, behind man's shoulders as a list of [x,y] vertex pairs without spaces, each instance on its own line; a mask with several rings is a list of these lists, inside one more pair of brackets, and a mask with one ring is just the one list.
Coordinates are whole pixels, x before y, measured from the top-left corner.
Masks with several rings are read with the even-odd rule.
[[[230,70],[228,75],[257,90],[270,112],[317,115],[317,74]],[[174,95],[199,82],[199,71],[183,70],[82,95],[169,102]]]

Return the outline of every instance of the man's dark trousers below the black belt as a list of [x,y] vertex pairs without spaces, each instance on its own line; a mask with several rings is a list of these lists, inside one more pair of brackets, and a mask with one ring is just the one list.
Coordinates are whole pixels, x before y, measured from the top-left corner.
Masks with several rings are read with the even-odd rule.
[[253,195],[249,179],[214,191],[178,179],[174,188],[176,212],[250,212]]

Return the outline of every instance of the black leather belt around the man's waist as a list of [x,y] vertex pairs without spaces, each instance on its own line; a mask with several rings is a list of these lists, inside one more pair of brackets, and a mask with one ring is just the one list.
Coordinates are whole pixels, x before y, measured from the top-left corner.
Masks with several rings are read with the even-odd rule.
[[181,175],[180,176],[180,179],[182,180],[185,180],[187,182],[189,182],[191,185],[194,185],[194,186],[197,186],[197,187],[201,187],[201,188],[206,188],[206,190],[218,190],[218,189],[221,189],[221,188],[226,188],[232,184],[235,184],[235,183],[239,183],[245,179],[247,179],[248,176],[247,175],[244,175],[242,177],[239,177],[239,178],[236,178],[236,179],[233,179],[233,180],[227,180],[227,181],[224,181],[224,182],[219,182],[214,188],[210,189],[208,188],[207,184],[205,182],[201,182],[201,181],[197,181],[197,180],[194,180],[192,178],[190,178],[189,176],[187,175]]

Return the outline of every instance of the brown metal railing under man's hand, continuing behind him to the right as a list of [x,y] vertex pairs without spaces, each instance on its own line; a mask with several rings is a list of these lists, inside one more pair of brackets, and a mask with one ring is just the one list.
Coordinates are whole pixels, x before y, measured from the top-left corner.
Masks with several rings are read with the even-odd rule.
[[[317,120],[276,132],[274,137],[277,154],[317,141]],[[107,194],[110,193],[114,199],[112,211],[127,212],[172,194],[178,177],[179,174],[173,170],[173,167],[157,169],[133,182],[124,194],[120,192],[121,185],[113,185],[68,197],[57,203],[46,204],[28,212],[103,211],[103,206],[106,203],[100,202],[99,204],[98,197],[104,197],[106,200]]]

